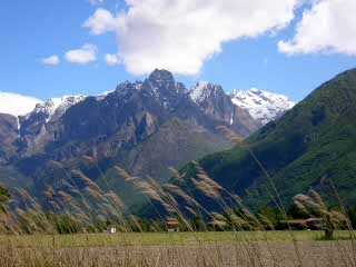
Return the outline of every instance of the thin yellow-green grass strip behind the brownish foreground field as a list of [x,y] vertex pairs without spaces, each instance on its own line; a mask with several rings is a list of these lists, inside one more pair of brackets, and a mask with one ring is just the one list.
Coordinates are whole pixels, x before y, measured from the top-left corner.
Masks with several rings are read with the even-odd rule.
[[[290,243],[323,239],[323,231],[209,231],[209,233],[118,233],[79,235],[0,236],[1,244],[17,248],[51,247],[111,247],[111,246],[187,246],[197,244]],[[337,239],[348,239],[348,231],[335,233]]]

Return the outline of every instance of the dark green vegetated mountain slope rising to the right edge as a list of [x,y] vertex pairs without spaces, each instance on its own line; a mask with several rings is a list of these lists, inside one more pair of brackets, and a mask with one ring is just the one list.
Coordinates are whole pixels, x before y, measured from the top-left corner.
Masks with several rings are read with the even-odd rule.
[[[290,201],[309,187],[330,191],[334,184],[343,199],[355,204],[356,70],[320,86],[246,144],[284,200]],[[247,202],[270,202],[269,182],[246,148],[237,146],[207,156],[199,164],[224,187],[245,196]],[[194,165],[186,166],[182,172],[194,176]]]

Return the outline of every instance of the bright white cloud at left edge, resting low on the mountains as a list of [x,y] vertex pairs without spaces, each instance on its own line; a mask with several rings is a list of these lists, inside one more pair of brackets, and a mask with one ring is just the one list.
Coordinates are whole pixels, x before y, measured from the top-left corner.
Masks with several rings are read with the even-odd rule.
[[32,111],[41,100],[12,92],[0,91],[0,113],[23,116]]

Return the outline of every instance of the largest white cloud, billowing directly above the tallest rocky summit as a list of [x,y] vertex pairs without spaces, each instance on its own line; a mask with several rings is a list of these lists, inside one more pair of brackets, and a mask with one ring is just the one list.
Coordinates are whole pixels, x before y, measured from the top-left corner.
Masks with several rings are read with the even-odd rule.
[[93,34],[115,31],[131,73],[165,68],[197,75],[222,43],[286,27],[300,1],[126,0],[119,14],[98,9],[85,27]]

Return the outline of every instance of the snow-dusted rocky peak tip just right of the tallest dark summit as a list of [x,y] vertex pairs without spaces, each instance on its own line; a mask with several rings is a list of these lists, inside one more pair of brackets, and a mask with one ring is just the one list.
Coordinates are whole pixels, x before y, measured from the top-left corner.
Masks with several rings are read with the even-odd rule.
[[214,85],[206,81],[197,82],[189,91],[190,98],[196,103],[200,103],[211,96],[224,93],[221,86]]

